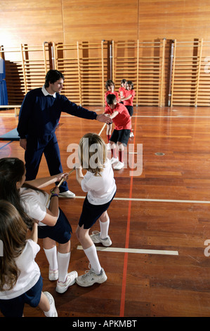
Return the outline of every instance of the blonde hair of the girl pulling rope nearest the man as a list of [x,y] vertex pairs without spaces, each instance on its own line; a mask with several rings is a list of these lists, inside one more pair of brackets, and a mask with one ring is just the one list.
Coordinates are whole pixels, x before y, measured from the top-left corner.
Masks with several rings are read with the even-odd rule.
[[78,154],[82,168],[90,171],[95,176],[102,173],[107,159],[107,148],[99,135],[86,133],[80,139]]

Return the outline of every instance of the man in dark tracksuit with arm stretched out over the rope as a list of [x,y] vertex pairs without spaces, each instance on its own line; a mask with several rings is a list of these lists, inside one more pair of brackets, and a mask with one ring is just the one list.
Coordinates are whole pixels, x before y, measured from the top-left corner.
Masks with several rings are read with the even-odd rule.
[[[26,180],[34,180],[37,177],[43,153],[50,174],[63,173],[55,136],[61,111],[88,120],[111,122],[104,114],[97,115],[96,112],[77,106],[66,96],[60,95],[63,82],[64,76],[60,71],[49,70],[44,87],[29,91],[22,102],[17,129],[20,146],[25,149]],[[59,196],[72,198],[75,194],[69,191],[67,182],[63,182]]]

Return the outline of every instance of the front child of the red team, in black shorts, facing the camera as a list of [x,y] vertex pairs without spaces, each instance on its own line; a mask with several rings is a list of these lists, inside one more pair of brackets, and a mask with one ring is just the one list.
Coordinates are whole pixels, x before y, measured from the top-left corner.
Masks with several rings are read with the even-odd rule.
[[[120,170],[124,167],[124,146],[127,146],[129,142],[131,116],[126,107],[123,104],[119,104],[114,94],[107,95],[107,104],[109,105],[109,109],[107,109],[105,113],[111,114],[110,118],[112,118],[112,122],[115,125],[112,136],[110,137],[112,151],[111,163],[118,161],[117,165],[114,165],[113,168],[115,170]],[[119,158],[117,157],[115,144],[117,144],[119,149]]]

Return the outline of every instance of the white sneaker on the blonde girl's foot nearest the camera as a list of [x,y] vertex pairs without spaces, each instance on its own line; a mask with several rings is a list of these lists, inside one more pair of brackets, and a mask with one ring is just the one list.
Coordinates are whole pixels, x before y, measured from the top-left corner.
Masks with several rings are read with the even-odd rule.
[[78,285],[80,285],[82,287],[88,287],[88,286],[92,286],[93,284],[95,284],[95,282],[98,282],[98,284],[101,284],[101,283],[105,282],[106,280],[107,280],[107,275],[105,274],[105,271],[102,268],[100,270],[99,275],[96,275],[96,273],[94,273],[94,271],[92,269],[87,270],[84,275],[77,277],[76,282]]

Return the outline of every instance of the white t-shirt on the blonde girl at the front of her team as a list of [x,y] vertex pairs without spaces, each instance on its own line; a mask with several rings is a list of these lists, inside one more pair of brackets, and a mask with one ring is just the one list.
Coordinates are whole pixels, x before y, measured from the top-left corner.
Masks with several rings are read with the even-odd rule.
[[109,159],[105,162],[104,170],[100,175],[95,176],[87,171],[83,180],[81,180],[81,189],[88,192],[87,199],[90,204],[107,204],[116,191],[114,172]]

